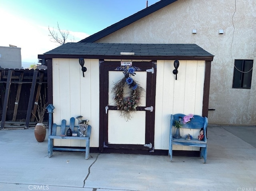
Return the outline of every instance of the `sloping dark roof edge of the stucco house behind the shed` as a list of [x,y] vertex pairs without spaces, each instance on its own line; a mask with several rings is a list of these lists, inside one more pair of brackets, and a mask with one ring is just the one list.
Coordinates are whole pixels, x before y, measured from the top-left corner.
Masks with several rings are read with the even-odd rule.
[[173,2],[175,2],[177,0],[161,0],[159,2],[156,2],[155,4],[145,8],[145,9],[142,9],[141,11],[115,23],[115,24],[112,24],[111,26],[91,35],[91,36],[88,36],[87,38],[81,40],[80,42],[95,42],[125,26],[128,26],[129,24],[137,21],[137,20],[140,20],[141,18],[145,17],[145,16],[148,16],[149,14],[153,13],[153,12],[156,12],[157,10],[160,10],[161,8],[169,5],[169,4],[172,4]]

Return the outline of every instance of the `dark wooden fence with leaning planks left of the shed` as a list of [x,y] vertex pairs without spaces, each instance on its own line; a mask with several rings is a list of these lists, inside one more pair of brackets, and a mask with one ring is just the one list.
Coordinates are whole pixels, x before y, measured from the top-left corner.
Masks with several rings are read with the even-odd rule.
[[[0,128],[17,121],[23,121],[28,128],[38,117],[40,97],[42,103],[47,103],[47,70],[0,68]],[[48,121],[47,113],[44,116]]]

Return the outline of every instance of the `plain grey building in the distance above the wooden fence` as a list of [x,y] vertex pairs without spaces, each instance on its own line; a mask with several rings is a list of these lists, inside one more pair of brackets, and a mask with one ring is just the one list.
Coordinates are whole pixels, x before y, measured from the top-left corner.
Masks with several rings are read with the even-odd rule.
[[21,69],[21,48],[0,46],[0,66],[8,69]]

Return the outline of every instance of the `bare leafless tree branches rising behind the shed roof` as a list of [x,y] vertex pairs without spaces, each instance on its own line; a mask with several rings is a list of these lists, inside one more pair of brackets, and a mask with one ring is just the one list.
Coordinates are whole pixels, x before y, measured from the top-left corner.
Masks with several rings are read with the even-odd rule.
[[56,32],[54,30],[54,28],[52,28],[52,30],[50,30],[50,26],[48,26],[48,30],[50,32],[50,34],[48,36],[52,37],[51,38],[52,42],[57,42],[60,45],[65,44],[66,40],[68,38],[68,35],[69,35],[69,31],[68,30],[60,30],[60,26],[59,26],[58,22],[57,22],[57,27],[58,27],[58,30]]

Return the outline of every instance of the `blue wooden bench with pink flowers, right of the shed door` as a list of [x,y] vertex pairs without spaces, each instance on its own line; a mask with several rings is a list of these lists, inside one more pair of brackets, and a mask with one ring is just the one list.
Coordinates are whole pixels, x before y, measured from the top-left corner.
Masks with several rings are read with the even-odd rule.
[[[178,113],[175,115],[171,115],[171,123],[170,123],[170,143],[169,143],[169,155],[172,161],[172,145],[184,145],[184,146],[192,146],[192,147],[201,147],[200,157],[204,157],[204,163],[206,163],[207,158],[207,142],[206,142],[206,129],[208,125],[208,118],[202,117],[200,115],[194,115],[194,118],[191,119],[189,123],[182,124],[181,128],[186,129],[202,129],[204,130],[204,137],[201,141],[198,140],[198,136],[192,137],[191,140],[186,140],[186,137],[182,137],[176,139],[172,137],[172,128],[175,126],[175,121],[179,121],[180,117],[184,117],[184,114]],[[176,127],[174,127],[176,129]],[[199,134],[198,134],[199,135]]]

